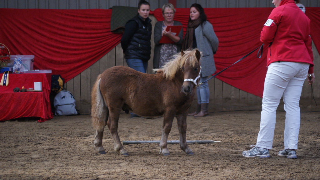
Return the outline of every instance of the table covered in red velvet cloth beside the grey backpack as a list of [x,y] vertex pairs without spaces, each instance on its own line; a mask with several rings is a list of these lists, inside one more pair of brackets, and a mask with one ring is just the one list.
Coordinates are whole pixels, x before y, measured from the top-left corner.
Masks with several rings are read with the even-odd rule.
[[[44,122],[53,118],[49,98],[51,73],[9,74],[8,79],[8,86],[0,86],[0,121],[39,117],[38,122]],[[42,92],[13,92],[15,87],[34,88],[34,82],[42,82]]]

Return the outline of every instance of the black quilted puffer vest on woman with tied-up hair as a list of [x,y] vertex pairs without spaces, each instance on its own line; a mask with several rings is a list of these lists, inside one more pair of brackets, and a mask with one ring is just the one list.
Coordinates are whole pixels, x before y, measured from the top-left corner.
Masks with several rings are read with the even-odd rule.
[[[142,61],[148,61],[151,54],[151,33],[152,26],[151,20],[147,18],[145,21],[142,20],[141,16],[137,14],[134,20],[138,23],[139,29],[131,37],[129,45],[124,52],[125,59],[141,59]],[[129,21],[131,21],[129,20]]]

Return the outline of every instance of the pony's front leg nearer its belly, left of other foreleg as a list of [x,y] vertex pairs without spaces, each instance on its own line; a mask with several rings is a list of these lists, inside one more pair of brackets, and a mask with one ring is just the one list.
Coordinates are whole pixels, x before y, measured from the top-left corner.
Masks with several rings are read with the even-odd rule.
[[162,152],[164,156],[170,155],[167,141],[168,141],[169,133],[171,131],[174,114],[175,114],[175,111],[173,110],[168,110],[164,112],[164,119],[163,119],[163,125],[162,125],[162,137],[160,141],[160,153]]

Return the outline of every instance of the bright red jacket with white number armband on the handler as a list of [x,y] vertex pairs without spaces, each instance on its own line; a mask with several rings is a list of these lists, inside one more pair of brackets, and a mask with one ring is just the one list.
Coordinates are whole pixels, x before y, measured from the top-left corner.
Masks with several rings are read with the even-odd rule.
[[275,61],[306,62],[313,73],[310,19],[294,3],[282,0],[265,23],[260,41],[269,45],[267,65]]

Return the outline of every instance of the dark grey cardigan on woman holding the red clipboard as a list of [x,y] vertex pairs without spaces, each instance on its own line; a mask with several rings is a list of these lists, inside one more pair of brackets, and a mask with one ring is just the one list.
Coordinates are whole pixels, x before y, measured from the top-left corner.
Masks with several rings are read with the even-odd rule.
[[[159,59],[160,59],[160,50],[163,44],[160,44],[161,34],[162,34],[162,22],[158,21],[155,25],[155,29],[153,31],[154,34],[154,42],[155,42],[155,51],[153,55],[153,68],[159,68]],[[182,23],[179,21],[173,21],[173,26],[182,26]],[[183,41],[183,28],[181,28],[180,33],[178,35],[180,40],[175,43],[178,46],[177,53],[181,51],[181,43]]]

